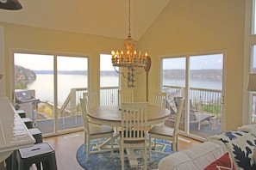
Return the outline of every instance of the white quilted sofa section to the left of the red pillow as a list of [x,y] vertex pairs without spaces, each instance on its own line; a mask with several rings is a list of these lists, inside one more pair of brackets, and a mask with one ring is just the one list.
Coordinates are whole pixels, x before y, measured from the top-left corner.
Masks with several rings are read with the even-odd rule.
[[168,155],[159,161],[159,170],[198,170],[207,167],[224,154],[222,147],[215,143],[200,143]]

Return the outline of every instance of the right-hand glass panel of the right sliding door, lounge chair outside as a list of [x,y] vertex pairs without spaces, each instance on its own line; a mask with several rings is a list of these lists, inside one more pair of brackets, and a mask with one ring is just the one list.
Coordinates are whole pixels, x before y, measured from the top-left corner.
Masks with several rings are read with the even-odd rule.
[[189,59],[189,133],[207,138],[222,131],[223,54]]

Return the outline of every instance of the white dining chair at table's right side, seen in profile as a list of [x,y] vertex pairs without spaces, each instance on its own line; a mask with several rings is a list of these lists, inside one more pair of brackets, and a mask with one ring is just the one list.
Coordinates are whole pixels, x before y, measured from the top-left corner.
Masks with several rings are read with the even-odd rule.
[[156,126],[154,125],[149,131],[149,156],[151,156],[152,148],[151,148],[151,139],[154,138],[154,149],[156,150],[157,138],[163,139],[166,141],[170,141],[172,143],[172,151],[178,151],[178,126],[181,118],[181,114],[184,111],[184,99],[179,100],[179,104],[181,105],[178,107],[177,116],[175,118],[175,123],[173,128],[165,127],[165,126]]

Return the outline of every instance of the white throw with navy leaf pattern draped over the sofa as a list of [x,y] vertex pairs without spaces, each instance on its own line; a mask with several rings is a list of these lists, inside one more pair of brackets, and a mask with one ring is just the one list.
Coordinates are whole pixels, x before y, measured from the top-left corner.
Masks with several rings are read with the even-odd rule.
[[225,147],[239,169],[256,169],[256,164],[253,161],[253,149],[256,147],[256,137],[253,133],[226,131],[220,135],[209,137],[207,140],[219,143]]

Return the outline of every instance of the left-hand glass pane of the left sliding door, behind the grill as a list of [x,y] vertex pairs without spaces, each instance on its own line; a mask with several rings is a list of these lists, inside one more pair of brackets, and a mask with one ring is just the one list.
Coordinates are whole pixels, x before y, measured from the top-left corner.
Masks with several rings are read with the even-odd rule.
[[[39,103],[19,103],[43,134],[53,133],[53,56],[15,53],[15,89],[28,90]],[[17,102],[17,100],[16,100]]]

